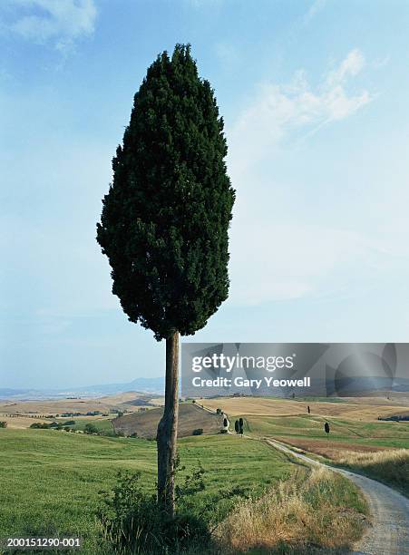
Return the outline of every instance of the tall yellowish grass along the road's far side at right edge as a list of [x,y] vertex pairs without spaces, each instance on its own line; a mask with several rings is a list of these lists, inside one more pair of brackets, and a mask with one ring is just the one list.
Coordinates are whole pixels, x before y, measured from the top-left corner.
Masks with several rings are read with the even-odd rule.
[[409,496],[409,449],[393,449],[375,453],[347,451],[336,456],[336,463],[363,472],[392,485]]

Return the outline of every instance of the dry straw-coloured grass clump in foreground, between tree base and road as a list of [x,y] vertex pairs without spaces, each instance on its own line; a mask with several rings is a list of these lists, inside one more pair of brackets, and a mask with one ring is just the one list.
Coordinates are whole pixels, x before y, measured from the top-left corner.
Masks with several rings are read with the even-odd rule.
[[261,499],[240,502],[217,536],[226,553],[347,550],[362,535],[366,512],[351,482],[320,467],[307,480],[299,474]]

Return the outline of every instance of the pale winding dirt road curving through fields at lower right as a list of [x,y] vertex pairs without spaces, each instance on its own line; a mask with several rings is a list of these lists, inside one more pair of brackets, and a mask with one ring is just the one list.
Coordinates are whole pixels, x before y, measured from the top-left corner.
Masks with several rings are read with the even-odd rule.
[[[283,443],[268,440],[268,443],[313,465],[320,465],[307,455],[296,453]],[[409,499],[398,492],[355,472],[333,469],[344,474],[365,493],[372,513],[372,526],[362,540],[355,544],[351,553],[355,555],[404,555],[409,553]]]

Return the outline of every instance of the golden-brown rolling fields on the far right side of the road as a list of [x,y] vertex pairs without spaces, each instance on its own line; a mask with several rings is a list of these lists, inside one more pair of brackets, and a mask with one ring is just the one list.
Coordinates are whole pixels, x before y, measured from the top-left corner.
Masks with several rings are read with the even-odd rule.
[[[408,495],[409,421],[377,419],[408,414],[408,404],[402,404],[403,396],[399,405],[375,401],[380,403],[375,398],[368,404],[368,397],[333,403],[227,397],[203,403],[209,407],[217,405],[229,414],[230,421],[241,416],[245,433],[251,437],[274,438],[315,453],[327,461],[364,472]],[[326,423],[330,426],[328,434],[324,430]]]

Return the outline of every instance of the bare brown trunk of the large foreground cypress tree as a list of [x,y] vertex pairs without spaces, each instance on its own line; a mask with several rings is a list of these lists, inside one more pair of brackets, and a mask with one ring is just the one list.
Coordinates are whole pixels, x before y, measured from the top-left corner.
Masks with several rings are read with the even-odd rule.
[[179,408],[179,332],[166,339],[165,409],[158,425],[158,502],[175,511],[175,461]]

